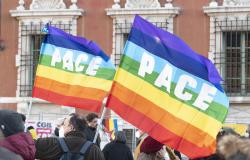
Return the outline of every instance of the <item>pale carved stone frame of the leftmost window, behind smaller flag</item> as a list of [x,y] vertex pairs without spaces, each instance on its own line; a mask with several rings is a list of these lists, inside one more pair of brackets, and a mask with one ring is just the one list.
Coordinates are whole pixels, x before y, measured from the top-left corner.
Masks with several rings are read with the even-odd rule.
[[[40,24],[46,24],[48,22],[52,22],[53,24],[70,24],[68,26],[68,30],[71,31],[71,34],[76,35],[77,33],[77,19],[78,17],[82,16],[84,13],[83,9],[79,9],[76,5],[77,0],[71,0],[72,4],[69,7],[69,9],[66,8],[66,5],[64,4],[63,0],[33,0],[29,9],[25,10],[25,1],[19,0],[19,6],[16,10],[10,10],[10,15],[12,17],[15,17],[19,21],[19,27],[18,27],[18,50],[16,55],[16,66],[17,66],[17,91],[16,91],[16,97],[18,98],[17,103],[17,109],[25,111],[27,110],[27,98],[29,97],[20,97],[20,85],[21,85],[21,79],[25,76],[21,72],[20,67],[20,61],[21,61],[21,55],[24,54],[30,54],[30,48],[29,47],[23,47],[27,46],[31,43],[31,39],[29,36],[21,36],[22,30],[24,30],[23,27],[26,27],[25,30],[29,29],[31,25],[38,25]],[[66,28],[65,28],[66,29]],[[33,33],[27,33],[27,34],[33,34]],[[25,49],[22,49],[25,48]],[[0,102],[1,103],[1,102]],[[33,99],[33,108],[34,112],[39,112],[39,106],[41,105],[50,105],[55,106],[54,104],[48,104],[47,101],[43,101],[40,99]],[[60,108],[60,107],[58,107]],[[56,110],[58,112],[58,108],[52,107],[51,110]],[[69,113],[74,112],[75,109],[71,108],[71,111]],[[58,112],[59,113],[59,112]]]

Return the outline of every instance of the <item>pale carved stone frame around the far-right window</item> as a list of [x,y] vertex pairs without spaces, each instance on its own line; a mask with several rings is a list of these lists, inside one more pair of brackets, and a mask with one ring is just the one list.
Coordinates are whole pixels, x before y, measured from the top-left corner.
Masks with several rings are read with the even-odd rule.
[[[250,2],[248,5],[240,3],[240,0],[235,1],[233,4],[232,1],[225,0],[221,6],[214,0],[211,1],[209,6],[204,6],[204,13],[210,17],[210,40],[209,40],[209,53],[208,58],[215,63],[215,54],[222,50],[222,34],[223,31],[227,31],[225,28],[221,32],[215,32],[216,21],[223,21],[225,19],[235,20],[238,18],[239,20],[247,20],[250,12]],[[235,27],[236,24],[232,24],[231,27]],[[219,66],[216,65],[218,71],[220,70]],[[248,96],[234,96],[229,97],[230,103],[234,104],[242,104],[242,103],[250,103],[250,97]]]

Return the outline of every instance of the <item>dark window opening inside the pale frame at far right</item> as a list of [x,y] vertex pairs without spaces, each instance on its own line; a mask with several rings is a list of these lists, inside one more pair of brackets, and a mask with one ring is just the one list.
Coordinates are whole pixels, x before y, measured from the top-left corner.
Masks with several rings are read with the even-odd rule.
[[229,93],[250,91],[250,32],[225,32],[225,84]]

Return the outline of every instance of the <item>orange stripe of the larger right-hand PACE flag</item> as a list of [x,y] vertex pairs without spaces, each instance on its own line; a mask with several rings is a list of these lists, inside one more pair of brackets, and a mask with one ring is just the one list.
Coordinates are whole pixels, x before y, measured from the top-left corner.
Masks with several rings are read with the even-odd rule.
[[[115,89],[112,90],[113,96],[137,112],[151,118],[155,123],[160,124],[162,127],[168,129],[177,136],[183,136],[183,138],[187,141],[196,144],[199,147],[204,147],[204,145],[211,146],[211,144],[215,144],[215,139],[206,132],[203,132],[202,130],[194,127],[192,124],[177,118],[117,82],[114,83],[114,86]],[[134,101],[133,98],[129,98],[127,95],[130,95],[130,97],[136,97],[136,101]],[[187,128],[187,130],[180,130],[179,128]],[[204,139],[204,141],[201,142],[200,139]]]

